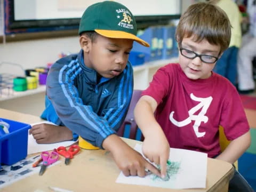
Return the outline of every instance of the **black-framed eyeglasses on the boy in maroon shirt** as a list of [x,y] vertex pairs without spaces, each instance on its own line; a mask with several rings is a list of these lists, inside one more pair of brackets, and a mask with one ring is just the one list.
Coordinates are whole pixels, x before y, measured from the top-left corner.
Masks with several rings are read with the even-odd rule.
[[214,57],[212,55],[197,54],[194,51],[190,51],[182,47],[180,47],[180,53],[188,59],[195,59],[196,57],[199,57],[201,61],[205,63],[214,63],[219,59],[218,57]]

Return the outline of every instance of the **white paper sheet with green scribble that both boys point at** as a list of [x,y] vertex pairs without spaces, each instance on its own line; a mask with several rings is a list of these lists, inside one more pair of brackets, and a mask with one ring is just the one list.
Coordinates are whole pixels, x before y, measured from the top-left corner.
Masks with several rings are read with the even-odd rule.
[[[141,145],[134,147],[142,154]],[[197,151],[170,148],[171,162],[169,172],[170,179],[163,181],[154,174],[145,178],[129,176],[121,172],[116,180],[117,183],[132,185],[145,185],[170,189],[205,188],[207,171],[207,154]]]

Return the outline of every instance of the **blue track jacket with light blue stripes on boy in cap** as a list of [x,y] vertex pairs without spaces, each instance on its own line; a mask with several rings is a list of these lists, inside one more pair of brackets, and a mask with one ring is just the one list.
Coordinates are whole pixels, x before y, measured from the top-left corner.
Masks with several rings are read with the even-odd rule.
[[133,70],[100,79],[84,65],[83,50],[55,62],[47,76],[45,110],[41,117],[65,125],[92,145],[116,133],[124,121],[133,92]]

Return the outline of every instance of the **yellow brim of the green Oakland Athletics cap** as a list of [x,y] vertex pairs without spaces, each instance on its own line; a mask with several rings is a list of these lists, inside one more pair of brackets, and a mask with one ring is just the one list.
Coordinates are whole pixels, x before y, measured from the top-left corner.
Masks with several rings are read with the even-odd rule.
[[139,44],[149,47],[150,45],[143,41],[141,38],[130,34],[126,33],[124,31],[116,31],[116,30],[102,30],[102,29],[94,29],[96,33],[104,36],[104,37],[109,37],[109,38],[125,38],[125,39],[133,39],[134,41],[138,42]]

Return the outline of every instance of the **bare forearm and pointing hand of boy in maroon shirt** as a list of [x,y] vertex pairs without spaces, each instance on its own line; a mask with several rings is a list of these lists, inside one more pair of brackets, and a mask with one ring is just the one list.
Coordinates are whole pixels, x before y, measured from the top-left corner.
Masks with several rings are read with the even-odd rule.
[[165,178],[166,164],[170,155],[170,146],[162,127],[157,123],[154,113],[157,101],[149,95],[143,95],[134,109],[134,116],[145,139],[142,153],[150,162],[160,165],[161,177]]

